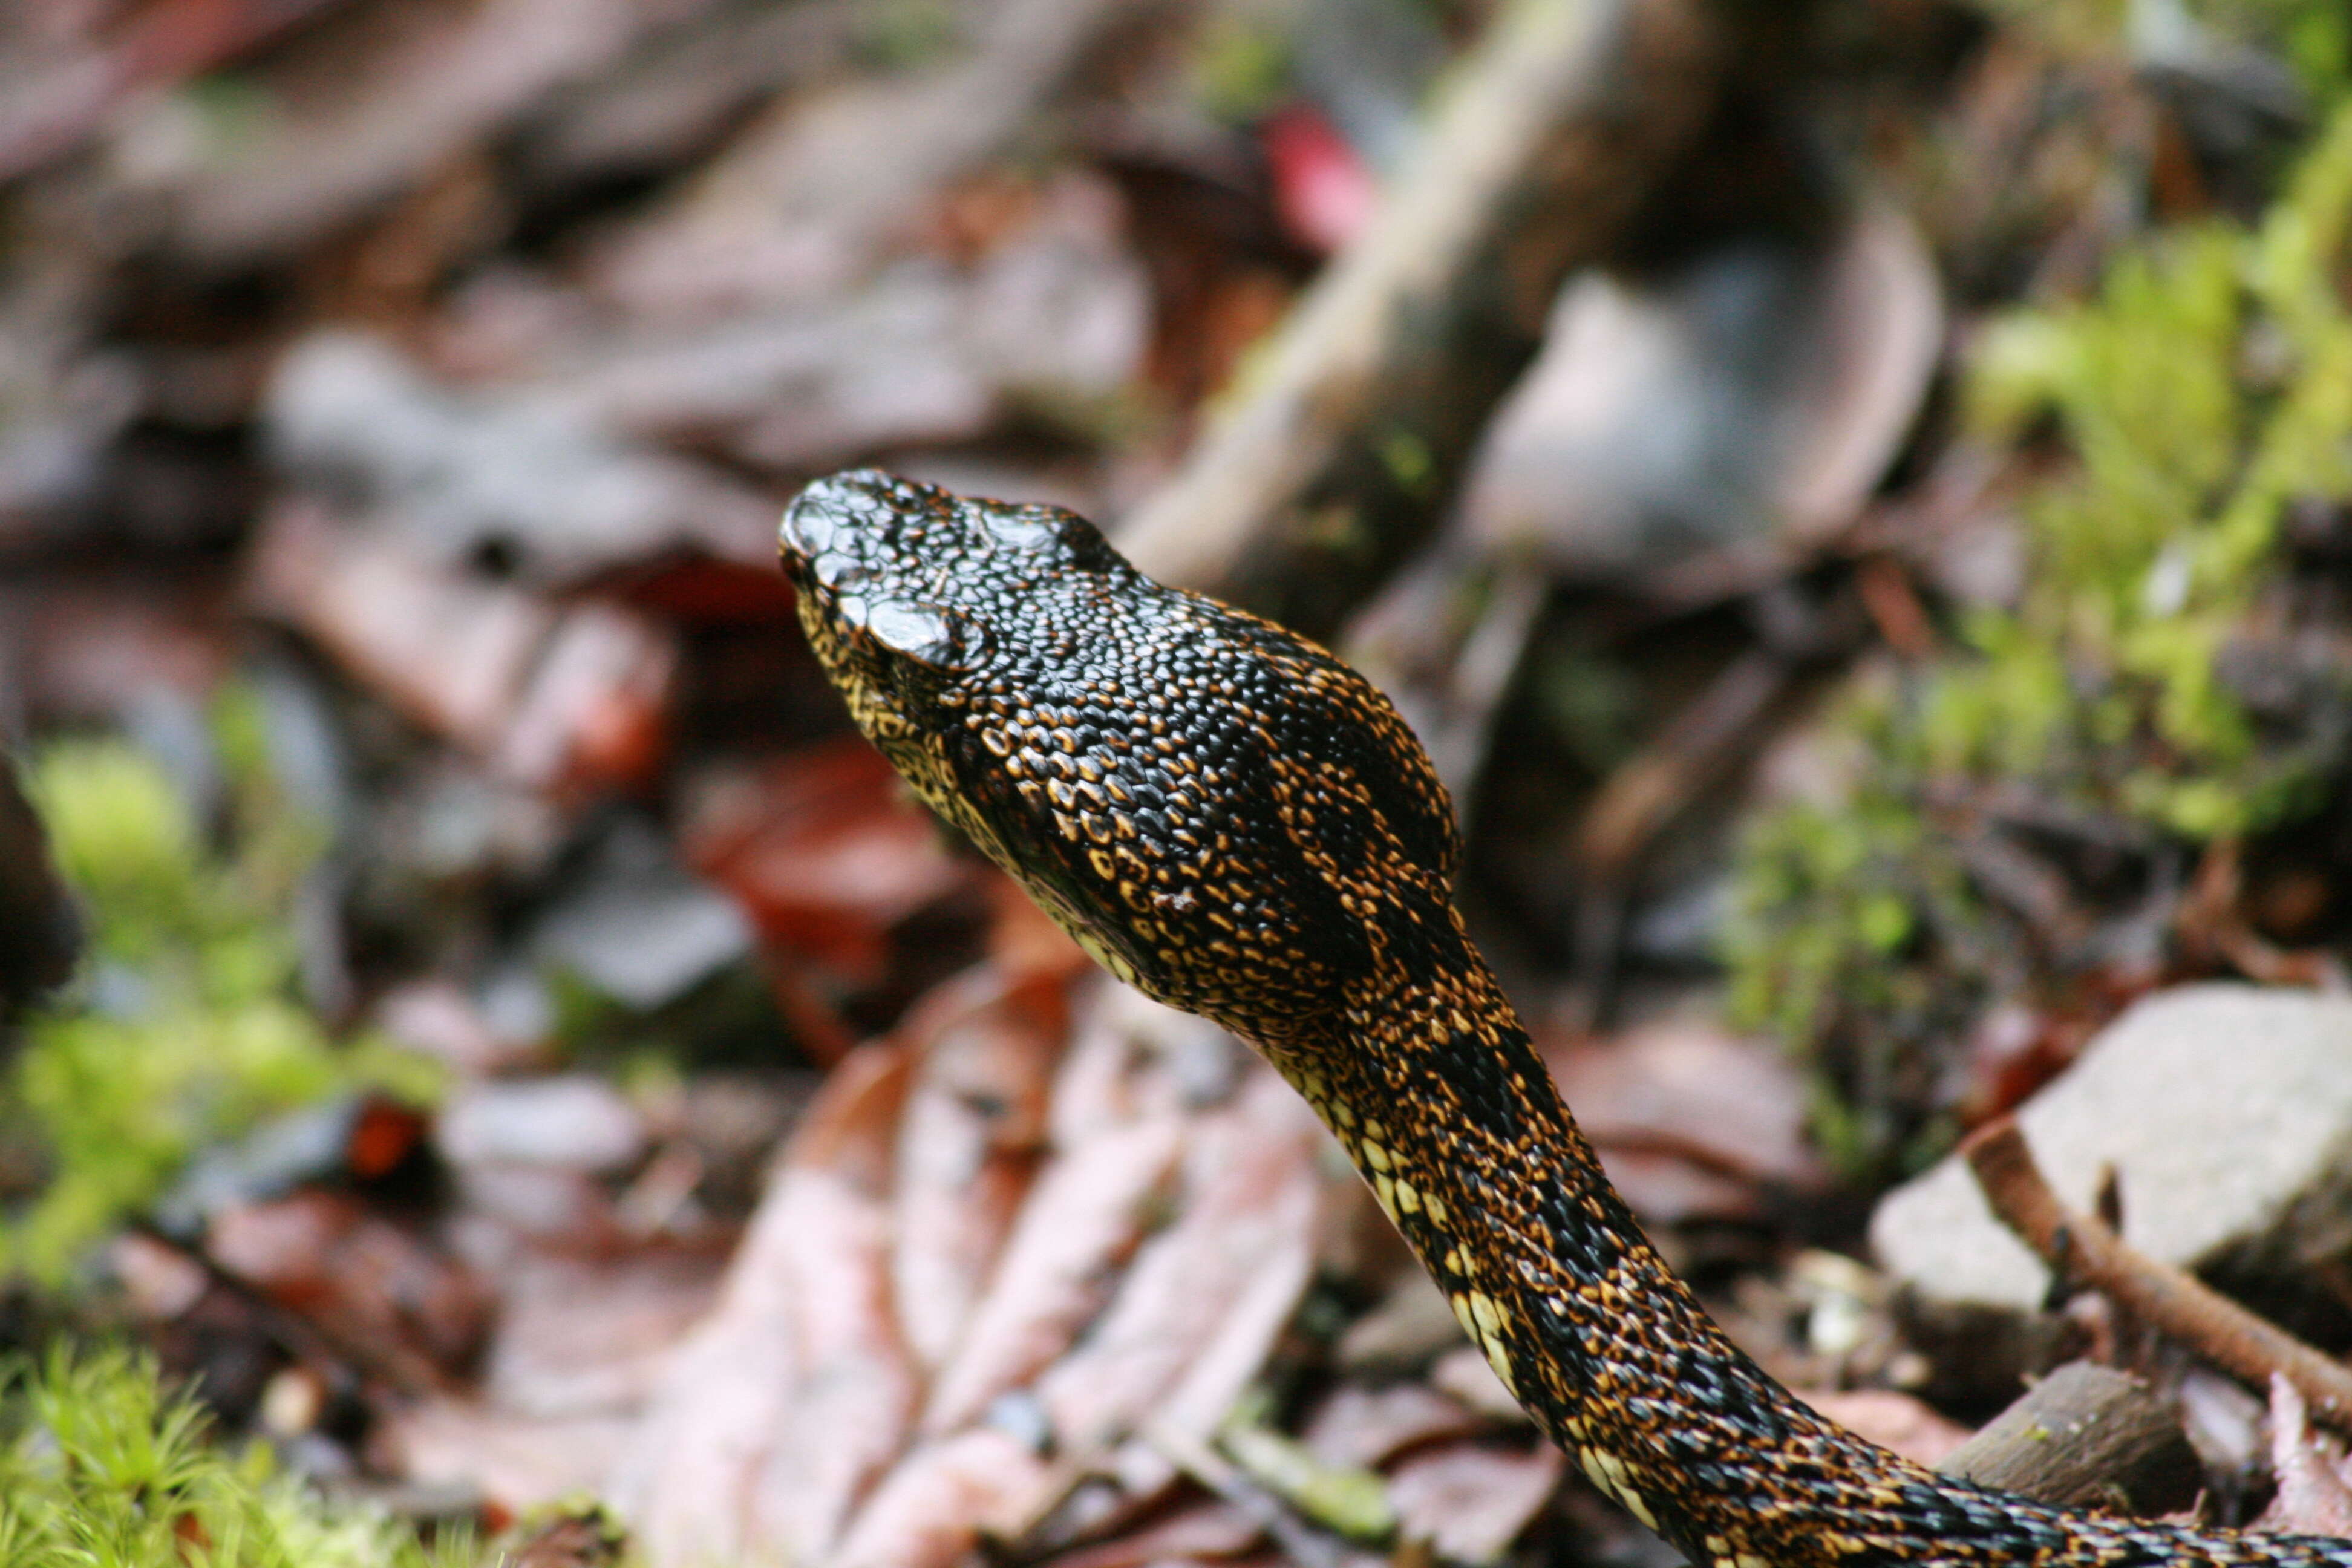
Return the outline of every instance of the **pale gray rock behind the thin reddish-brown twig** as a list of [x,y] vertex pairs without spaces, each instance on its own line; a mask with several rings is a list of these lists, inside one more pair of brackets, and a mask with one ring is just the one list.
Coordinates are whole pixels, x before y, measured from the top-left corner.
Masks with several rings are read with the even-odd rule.
[[[2018,1121],[2077,1208],[2114,1166],[2124,1239],[2164,1262],[2279,1276],[2352,1248],[2352,999],[2251,985],[2147,997]],[[2049,1291],[1957,1154],[1886,1194],[1870,1244],[1929,1314],[2030,1314]]]

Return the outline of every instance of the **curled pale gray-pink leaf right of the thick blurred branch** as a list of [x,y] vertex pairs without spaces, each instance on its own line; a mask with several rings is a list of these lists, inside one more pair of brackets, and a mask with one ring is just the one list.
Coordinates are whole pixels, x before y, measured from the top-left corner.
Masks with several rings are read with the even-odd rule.
[[1463,527],[1562,576],[1818,543],[1900,451],[1940,357],[1933,259],[1884,207],[1811,252],[1750,235],[1649,280],[1585,270],[1486,428]]

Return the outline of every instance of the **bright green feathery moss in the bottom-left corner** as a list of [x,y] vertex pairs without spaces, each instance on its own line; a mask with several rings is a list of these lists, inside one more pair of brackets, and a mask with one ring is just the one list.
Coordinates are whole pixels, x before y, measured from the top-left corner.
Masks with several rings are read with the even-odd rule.
[[0,1373],[0,1563],[9,1568],[454,1568],[397,1521],[336,1507],[270,1453],[207,1446],[193,1401],[120,1349]]

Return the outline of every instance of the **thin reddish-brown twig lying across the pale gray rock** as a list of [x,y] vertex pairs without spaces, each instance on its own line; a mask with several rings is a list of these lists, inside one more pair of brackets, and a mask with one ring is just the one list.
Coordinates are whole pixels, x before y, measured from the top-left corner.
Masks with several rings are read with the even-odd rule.
[[1992,1213],[2058,1279],[2103,1291],[2147,1326],[2258,1389],[2270,1385],[2272,1373],[2286,1378],[2319,1420],[2352,1432],[2352,1368],[2140,1253],[2093,1215],[2070,1211],[2051,1192],[2013,1117],[1980,1126],[1962,1154]]

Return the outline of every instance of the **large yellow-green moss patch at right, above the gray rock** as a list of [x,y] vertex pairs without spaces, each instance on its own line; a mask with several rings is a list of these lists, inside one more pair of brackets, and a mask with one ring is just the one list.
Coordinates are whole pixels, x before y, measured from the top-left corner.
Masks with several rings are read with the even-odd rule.
[[2096,299],[1983,334],[1971,423],[2044,473],[2018,508],[2030,588],[1969,618],[1959,654],[1858,696],[1851,799],[1771,813],[1738,872],[1736,1009],[1823,1063],[1830,1143],[1860,1166],[1933,1140],[1947,1091],[1889,1088],[1903,1051],[1950,1058],[1985,997],[2079,961],[1994,914],[1933,802],[2025,785],[2194,846],[2324,799],[2340,757],[2220,672],[2281,583],[2286,508],[2352,498],[2347,223],[2352,110],[2260,228],[2159,235]]

